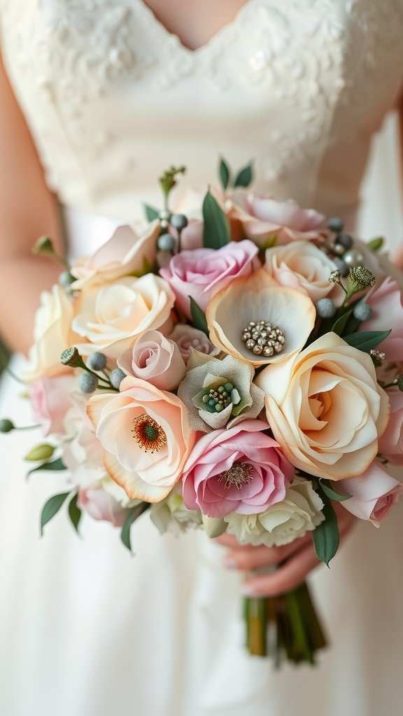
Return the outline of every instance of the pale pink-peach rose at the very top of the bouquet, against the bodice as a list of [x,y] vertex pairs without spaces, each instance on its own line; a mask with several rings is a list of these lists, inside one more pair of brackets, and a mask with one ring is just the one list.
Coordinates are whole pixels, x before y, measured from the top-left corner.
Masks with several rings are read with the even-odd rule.
[[314,209],[252,193],[235,194],[229,216],[241,221],[248,238],[260,246],[274,237],[276,246],[298,239],[318,241],[326,228],[325,217]]

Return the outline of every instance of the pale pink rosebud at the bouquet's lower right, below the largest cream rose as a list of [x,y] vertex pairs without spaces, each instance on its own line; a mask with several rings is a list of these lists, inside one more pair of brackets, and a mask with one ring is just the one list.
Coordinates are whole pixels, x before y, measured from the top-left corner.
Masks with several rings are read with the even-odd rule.
[[359,478],[349,478],[337,483],[337,490],[346,490],[351,498],[341,504],[361,520],[369,520],[376,527],[387,516],[403,492],[403,485],[381,468],[378,460],[369,465]]

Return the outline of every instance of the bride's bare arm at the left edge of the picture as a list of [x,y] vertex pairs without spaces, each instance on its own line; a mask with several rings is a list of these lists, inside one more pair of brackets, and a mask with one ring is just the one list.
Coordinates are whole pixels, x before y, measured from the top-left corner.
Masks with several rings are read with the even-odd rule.
[[1,57],[0,107],[0,334],[10,347],[26,352],[39,294],[60,273],[54,260],[32,256],[31,249],[42,234],[56,244],[60,237],[57,203],[44,183]]

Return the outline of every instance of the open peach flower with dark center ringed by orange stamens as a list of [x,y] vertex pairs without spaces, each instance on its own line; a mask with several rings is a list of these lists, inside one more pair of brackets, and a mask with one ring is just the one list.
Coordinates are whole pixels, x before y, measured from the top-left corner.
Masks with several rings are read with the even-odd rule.
[[118,395],[90,397],[87,413],[108,475],[132,500],[163,500],[181,477],[195,440],[181,400],[128,376]]

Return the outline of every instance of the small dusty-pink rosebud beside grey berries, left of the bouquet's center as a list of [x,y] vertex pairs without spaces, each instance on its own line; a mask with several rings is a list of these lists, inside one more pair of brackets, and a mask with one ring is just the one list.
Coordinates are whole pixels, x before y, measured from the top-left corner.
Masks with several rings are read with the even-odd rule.
[[174,390],[186,373],[179,347],[159,331],[147,331],[119,358],[127,375],[146,380],[160,390]]

